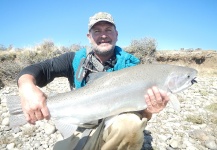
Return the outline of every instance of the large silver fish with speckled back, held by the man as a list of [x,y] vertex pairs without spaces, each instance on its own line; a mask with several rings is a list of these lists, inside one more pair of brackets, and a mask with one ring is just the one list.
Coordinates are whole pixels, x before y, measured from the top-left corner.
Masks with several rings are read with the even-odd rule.
[[[57,129],[68,137],[73,132],[68,130],[75,130],[75,125],[147,108],[144,94],[152,86],[177,93],[196,82],[196,75],[197,71],[188,67],[137,65],[106,73],[78,90],[48,97],[47,106]],[[12,127],[27,123],[19,97],[9,97],[7,104]]]

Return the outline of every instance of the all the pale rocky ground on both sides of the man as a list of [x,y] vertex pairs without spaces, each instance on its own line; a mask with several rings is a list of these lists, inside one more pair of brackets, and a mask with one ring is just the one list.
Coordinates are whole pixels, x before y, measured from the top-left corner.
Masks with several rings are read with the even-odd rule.
[[[177,95],[180,111],[172,105],[155,115],[144,132],[144,150],[217,150],[217,76],[201,76],[198,83]],[[48,95],[68,91],[65,79],[56,79],[43,88]],[[62,136],[52,121],[9,127],[7,95],[17,95],[16,85],[0,90],[0,149],[49,150]]]

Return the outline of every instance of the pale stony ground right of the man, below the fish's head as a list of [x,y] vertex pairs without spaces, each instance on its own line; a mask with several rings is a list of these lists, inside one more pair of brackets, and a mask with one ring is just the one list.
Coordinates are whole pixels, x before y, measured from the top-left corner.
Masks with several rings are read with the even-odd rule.
[[217,77],[197,81],[178,94],[180,111],[168,105],[149,121],[144,149],[217,150]]

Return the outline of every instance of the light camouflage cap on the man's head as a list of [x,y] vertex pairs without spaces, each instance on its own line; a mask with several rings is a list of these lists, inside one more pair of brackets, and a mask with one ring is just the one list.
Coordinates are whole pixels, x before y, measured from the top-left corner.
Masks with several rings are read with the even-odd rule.
[[114,19],[112,15],[106,12],[98,12],[89,19],[88,30],[90,30],[97,22],[107,21],[112,23],[115,26]]

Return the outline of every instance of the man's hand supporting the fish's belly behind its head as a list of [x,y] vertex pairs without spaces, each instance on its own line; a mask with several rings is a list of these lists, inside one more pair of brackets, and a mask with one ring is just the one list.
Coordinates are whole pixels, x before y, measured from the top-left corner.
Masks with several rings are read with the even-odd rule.
[[145,95],[145,102],[147,104],[147,109],[143,110],[143,117],[148,120],[151,119],[153,113],[159,113],[163,110],[169,101],[167,92],[158,89],[157,87],[152,87],[147,90]]

